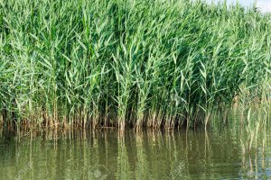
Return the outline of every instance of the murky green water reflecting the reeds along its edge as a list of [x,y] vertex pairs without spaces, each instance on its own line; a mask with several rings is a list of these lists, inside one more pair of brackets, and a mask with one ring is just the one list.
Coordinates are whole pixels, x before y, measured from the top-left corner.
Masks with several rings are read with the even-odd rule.
[[0,179],[271,179],[260,133],[248,152],[239,129],[2,132]]

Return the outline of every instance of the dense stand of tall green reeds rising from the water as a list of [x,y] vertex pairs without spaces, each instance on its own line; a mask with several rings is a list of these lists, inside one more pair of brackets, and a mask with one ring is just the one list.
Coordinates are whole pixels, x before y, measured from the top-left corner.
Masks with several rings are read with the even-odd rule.
[[270,101],[271,16],[163,0],[0,1],[5,126],[210,123]]

